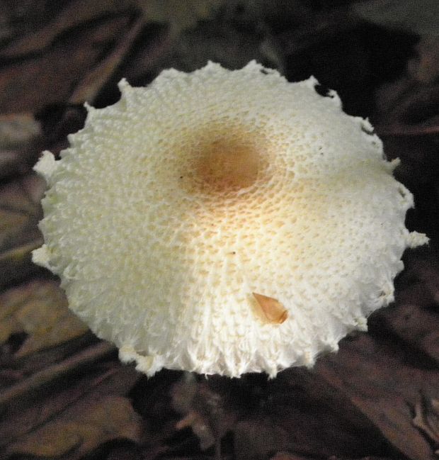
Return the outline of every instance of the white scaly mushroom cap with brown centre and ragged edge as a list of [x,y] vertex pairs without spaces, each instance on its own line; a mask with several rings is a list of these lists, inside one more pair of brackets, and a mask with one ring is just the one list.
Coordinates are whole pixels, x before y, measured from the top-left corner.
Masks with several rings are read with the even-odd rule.
[[393,300],[411,193],[367,120],[250,62],[120,82],[35,170],[69,305],[123,361],[239,376],[314,364]]

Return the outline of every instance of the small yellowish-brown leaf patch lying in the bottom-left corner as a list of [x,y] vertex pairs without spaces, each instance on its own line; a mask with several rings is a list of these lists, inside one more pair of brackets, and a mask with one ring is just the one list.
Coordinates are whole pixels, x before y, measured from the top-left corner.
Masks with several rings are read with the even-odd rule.
[[142,419],[127,398],[92,395],[10,444],[7,453],[73,460],[112,439],[139,442],[142,432]]

